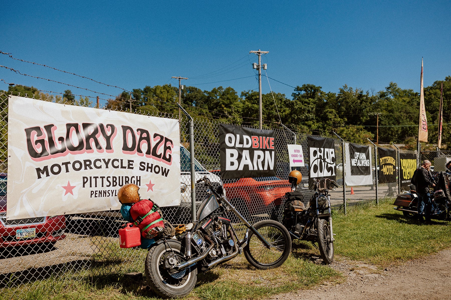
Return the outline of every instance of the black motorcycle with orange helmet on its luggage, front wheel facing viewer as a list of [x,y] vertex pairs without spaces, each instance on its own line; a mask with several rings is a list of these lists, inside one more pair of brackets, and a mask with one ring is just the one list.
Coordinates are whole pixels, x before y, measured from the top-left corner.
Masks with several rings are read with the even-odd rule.
[[[332,231],[330,186],[339,187],[332,179],[315,179],[314,194],[305,208],[304,196],[296,192],[296,186],[301,182],[299,171],[291,171],[288,180],[294,192],[286,194],[282,224],[295,239],[318,242],[318,249],[325,264],[334,260],[334,233]],[[323,184],[323,187],[321,185]]]

